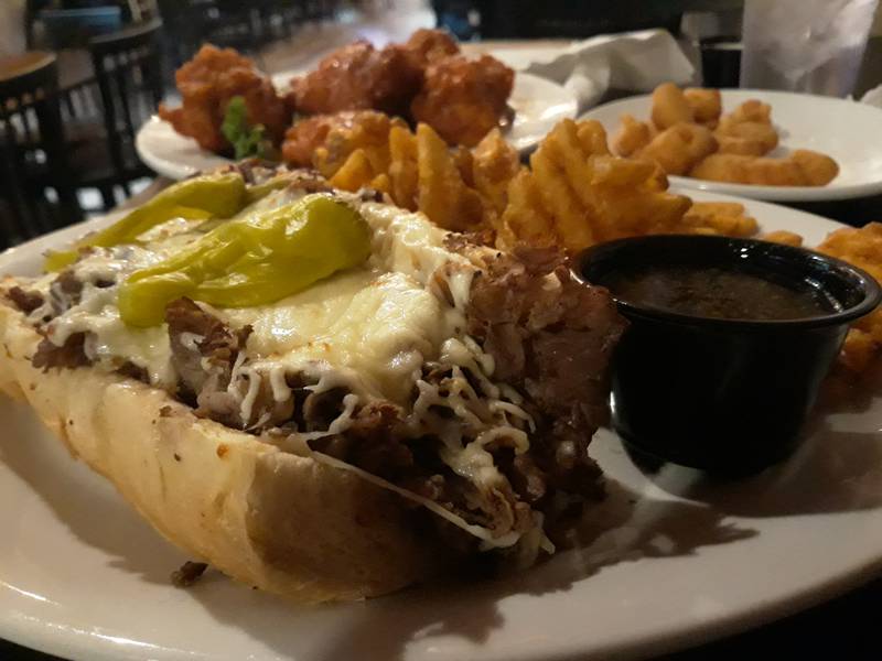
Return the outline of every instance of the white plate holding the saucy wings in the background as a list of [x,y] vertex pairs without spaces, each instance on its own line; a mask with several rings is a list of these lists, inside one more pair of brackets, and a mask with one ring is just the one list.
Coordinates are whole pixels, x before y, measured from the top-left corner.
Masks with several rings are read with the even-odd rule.
[[[282,88],[293,75],[295,72],[277,74],[272,79]],[[570,90],[524,73],[515,74],[508,102],[515,117],[505,137],[519,152],[534,149],[558,121],[576,117],[579,108]],[[173,180],[229,163],[229,160],[200,148],[192,138],[176,133],[169,122],[157,116],[138,130],[135,147],[151,170]]]

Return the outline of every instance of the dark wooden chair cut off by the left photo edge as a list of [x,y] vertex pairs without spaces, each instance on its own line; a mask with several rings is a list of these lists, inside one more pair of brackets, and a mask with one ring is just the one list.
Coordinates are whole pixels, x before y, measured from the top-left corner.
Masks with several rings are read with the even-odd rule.
[[55,56],[0,80],[0,241],[13,245],[79,220],[64,149]]

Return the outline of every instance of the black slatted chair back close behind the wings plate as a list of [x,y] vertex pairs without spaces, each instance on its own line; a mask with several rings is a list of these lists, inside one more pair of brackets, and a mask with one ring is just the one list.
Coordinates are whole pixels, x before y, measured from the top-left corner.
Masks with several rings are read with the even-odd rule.
[[130,156],[135,133],[155,112],[163,96],[161,29],[162,21],[155,19],[89,42],[110,160],[123,185],[144,173],[143,164]]

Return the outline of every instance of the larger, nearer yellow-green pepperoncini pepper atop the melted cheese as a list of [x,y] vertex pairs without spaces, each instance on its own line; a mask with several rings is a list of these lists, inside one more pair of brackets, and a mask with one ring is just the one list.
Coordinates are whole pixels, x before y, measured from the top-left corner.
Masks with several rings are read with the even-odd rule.
[[370,230],[347,204],[309,195],[229,220],[120,286],[119,312],[131,326],[154,326],[165,306],[189,296],[220,307],[273,303],[364,262]]

